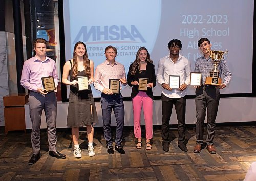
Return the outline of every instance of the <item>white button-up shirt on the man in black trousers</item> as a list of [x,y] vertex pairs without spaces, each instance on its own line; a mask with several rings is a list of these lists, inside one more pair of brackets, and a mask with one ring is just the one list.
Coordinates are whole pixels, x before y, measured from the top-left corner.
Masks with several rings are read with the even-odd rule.
[[[179,54],[176,63],[167,55],[159,60],[157,67],[157,82],[169,84],[169,75],[179,75],[180,85],[190,83],[191,65],[187,58]],[[183,91],[173,89],[166,90],[162,88],[162,94],[169,98],[181,98],[186,95],[186,89]]]

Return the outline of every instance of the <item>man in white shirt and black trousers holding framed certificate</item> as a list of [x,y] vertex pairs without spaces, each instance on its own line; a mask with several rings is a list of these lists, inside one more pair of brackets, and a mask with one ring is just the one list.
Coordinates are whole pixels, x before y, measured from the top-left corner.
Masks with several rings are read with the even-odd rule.
[[[190,62],[179,54],[182,48],[181,41],[173,39],[168,43],[170,54],[161,58],[158,63],[157,81],[162,86],[162,145],[164,151],[169,151],[171,134],[169,131],[170,116],[173,105],[175,106],[178,119],[178,147],[187,151],[185,145],[185,112],[186,112],[186,88],[190,82]],[[180,76],[180,86],[172,89],[169,76]]]

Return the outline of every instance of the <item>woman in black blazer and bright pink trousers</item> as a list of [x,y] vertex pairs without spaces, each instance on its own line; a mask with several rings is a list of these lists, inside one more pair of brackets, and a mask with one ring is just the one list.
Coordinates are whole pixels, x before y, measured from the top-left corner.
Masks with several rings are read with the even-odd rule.
[[[142,84],[146,84],[146,87],[139,86],[140,79]],[[147,82],[146,82],[147,81]],[[153,137],[153,92],[152,87],[156,86],[156,74],[155,65],[150,59],[150,54],[145,47],[139,48],[136,59],[130,65],[127,82],[129,86],[132,86],[131,99],[133,102],[133,114],[134,114],[134,134],[138,139],[136,145],[137,149],[141,149],[141,128],[140,128],[140,115],[141,108],[143,106],[144,119],[146,125],[146,149],[150,150],[150,139]],[[139,88],[140,87],[140,88]]]

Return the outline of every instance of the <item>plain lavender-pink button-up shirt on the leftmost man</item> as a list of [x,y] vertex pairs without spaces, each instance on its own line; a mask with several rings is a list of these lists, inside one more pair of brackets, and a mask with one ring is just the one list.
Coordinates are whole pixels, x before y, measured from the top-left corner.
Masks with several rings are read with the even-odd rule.
[[55,87],[57,87],[58,74],[55,61],[48,57],[41,61],[34,56],[24,62],[20,84],[28,90],[37,92],[37,88],[42,87],[41,78],[48,76],[53,76]]

